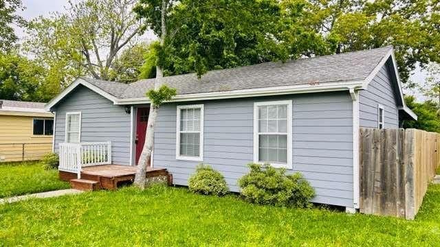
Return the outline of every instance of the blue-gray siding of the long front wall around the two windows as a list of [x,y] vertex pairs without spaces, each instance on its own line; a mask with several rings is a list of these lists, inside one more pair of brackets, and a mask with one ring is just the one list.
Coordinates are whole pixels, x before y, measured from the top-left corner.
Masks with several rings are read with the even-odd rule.
[[[237,180],[253,160],[254,102],[285,99],[293,103],[289,172],[302,172],[309,180],[316,190],[314,202],[353,207],[353,104],[345,91],[194,103],[204,104],[203,163],[219,170],[230,189],[239,191]],[[175,158],[176,106],[160,109],[153,164],[167,168],[175,184],[188,185],[198,162]]]

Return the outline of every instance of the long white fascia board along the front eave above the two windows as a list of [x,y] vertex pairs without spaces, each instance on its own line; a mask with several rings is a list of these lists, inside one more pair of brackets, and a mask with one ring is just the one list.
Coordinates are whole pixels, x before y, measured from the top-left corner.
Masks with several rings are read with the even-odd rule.
[[[363,83],[364,81],[353,81],[325,83],[321,85],[303,84],[295,86],[274,86],[261,89],[243,89],[226,92],[193,93],[188,95],[177,95],[173,97],[173,99],[169,102],[188,102],[209,99],[232,99],[240,97],[259,97],[296,93],[320,93],[328,91],[347,91],[349,89],[360,89]],[[150,100],[148,100],[146,97],[118,99],[115,104],[150,104]]]

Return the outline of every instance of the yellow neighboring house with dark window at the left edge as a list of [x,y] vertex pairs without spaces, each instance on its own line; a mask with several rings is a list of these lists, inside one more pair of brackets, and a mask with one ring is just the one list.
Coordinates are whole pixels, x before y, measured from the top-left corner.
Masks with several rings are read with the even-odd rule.
[[54,115],[44,105],[0,99],[0,162],[34,161],[52,151]]

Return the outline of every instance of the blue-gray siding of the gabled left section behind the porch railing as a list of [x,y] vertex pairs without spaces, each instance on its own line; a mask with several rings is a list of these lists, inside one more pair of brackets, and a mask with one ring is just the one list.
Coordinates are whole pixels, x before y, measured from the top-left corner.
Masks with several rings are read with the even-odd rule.
[[67,112],[81,112],[80,141],[111,141],[114,164],[130,164],[130,115],[123,106],[109,101],[85,88],[74,89],[54,108],[56,111],[55,151],[58,143],[65,141],[65,118]]

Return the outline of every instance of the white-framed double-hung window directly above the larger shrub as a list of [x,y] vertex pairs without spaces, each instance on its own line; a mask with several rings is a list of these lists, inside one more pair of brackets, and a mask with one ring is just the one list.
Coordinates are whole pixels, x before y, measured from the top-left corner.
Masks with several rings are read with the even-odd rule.
[[292,169],[292,101],[254,103],[254,162]]

